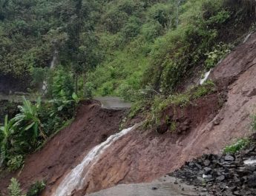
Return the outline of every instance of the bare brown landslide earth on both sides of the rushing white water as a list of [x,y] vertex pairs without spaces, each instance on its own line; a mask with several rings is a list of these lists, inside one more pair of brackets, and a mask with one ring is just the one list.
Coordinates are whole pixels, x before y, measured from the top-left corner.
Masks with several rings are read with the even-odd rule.
[[[179,122],[179,133],[163,129],[136,129],[112,143],[88,171],[82,196],[120,183],[147,183],[179,168],[187,160],[218,153],[234,138],[249,135],[250,115],[256,103],[256,34],[227,56],[211,73],[219,92],[199,98],[188,107],[165,115]],[[97,144],[119,129],[123,111],[84,103],[76,120],[44,149],[30,155],[18,179],[24,189],[36,180],[47,180],[45,195],[80,163]],[[10,177],[1,179],[5,190]]]

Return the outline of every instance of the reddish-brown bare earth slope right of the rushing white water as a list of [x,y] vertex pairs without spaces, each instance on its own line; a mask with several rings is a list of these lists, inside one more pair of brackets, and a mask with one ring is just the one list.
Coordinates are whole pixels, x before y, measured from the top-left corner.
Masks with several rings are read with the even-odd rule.
[[186,108],[171,107],[168,118],[180,121],[183,132],[137,129],[116,141],[91,169],[85,195],[119,183],[144,183],[160,178],[203,154],[217,154],[236,138],[250,135],[256,103],[256,34],[240,44],[211,72],[218,92]]

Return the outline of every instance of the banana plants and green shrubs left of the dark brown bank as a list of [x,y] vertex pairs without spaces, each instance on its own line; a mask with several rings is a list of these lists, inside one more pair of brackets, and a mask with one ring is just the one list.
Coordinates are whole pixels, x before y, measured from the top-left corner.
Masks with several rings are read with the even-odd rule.
[[73,119],[79,98],[71,95],[59,100],[41,102],[39,98],[31,103],[23,97],[19,112],[10,120],[5,117],[0,127],[1,166],[7,166],[10,172],[20,169],[24,156],[39,149],[47,138],[54,135],[70,119]]

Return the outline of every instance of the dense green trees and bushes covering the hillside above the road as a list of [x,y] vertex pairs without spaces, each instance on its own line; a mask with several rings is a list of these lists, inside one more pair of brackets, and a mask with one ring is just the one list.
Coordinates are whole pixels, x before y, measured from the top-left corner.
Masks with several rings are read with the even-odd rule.
[[[72,85],[79,95],[134,101],[147,88],[167,95],[191,70],[208,70],[229,53],[253,24],[255,4],[1,0],[0,72],[29,75],[35,87],[49,80],[49,88],[53,78],[63,81],[58,75],[69,73],[62,84]],[[48,69],[53,56],[62,65],[55,69],[60,73]]]

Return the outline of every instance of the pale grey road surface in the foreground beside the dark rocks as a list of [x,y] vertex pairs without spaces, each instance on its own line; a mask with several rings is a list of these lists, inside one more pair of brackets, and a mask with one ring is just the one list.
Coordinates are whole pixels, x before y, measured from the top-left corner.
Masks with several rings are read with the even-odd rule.
[[180,183],[176,178],[165,177],[153,183],[121,184],[87,196],[209,196],[203,189]]

